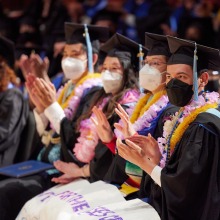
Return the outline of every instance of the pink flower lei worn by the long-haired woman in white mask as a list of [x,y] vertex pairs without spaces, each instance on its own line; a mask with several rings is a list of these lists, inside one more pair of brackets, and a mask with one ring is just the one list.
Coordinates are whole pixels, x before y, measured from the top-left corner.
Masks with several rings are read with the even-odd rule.
[[[138,93],[136,90],[127,91],[124,96],[119,100],[120,104],[131,103],[137,100]],[[103,109],[104,106],[108,103],[110,97],[106,97],[99,104],[98,108]],[[90,118],[82,120],[80,122],[80,137],[77,139],[77,143],[73,148],[73,152],[78,160],[89,163],[95,155],[95,147],[98,144],[99,137],[96,132],[96,126],[91,121],[91,117],[95,117],[94,114]]]

